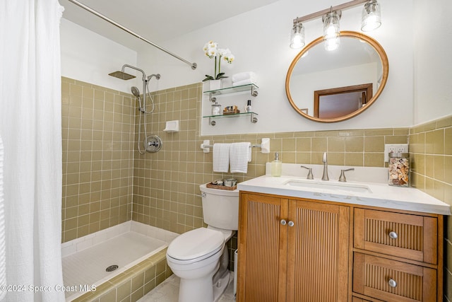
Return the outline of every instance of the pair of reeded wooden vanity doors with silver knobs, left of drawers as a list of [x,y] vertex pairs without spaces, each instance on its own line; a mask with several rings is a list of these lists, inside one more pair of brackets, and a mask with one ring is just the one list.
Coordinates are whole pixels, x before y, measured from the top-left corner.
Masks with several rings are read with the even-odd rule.
[[347,301],[350,207],[241,192],[237,301]]

